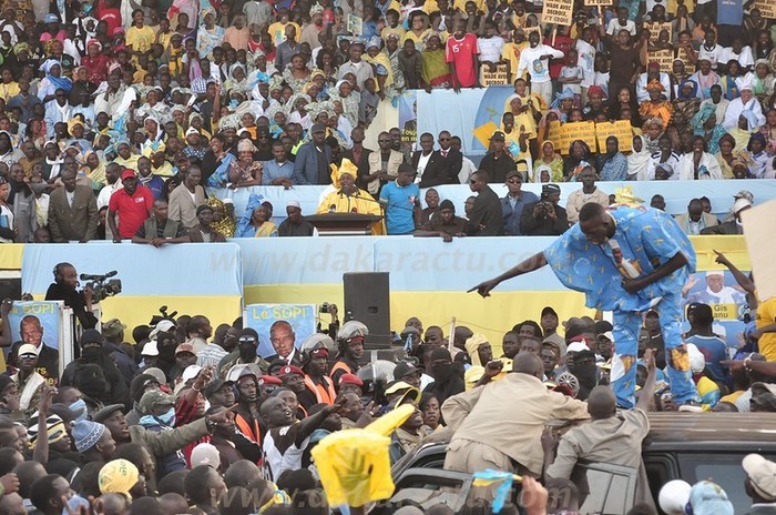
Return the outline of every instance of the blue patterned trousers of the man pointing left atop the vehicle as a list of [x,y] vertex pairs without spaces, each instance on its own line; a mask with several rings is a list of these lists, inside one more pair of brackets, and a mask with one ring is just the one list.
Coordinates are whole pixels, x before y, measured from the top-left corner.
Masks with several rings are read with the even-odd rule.
[[[687,347],[682,341],[682,299],[678,293],[664,296],[655,310],[665,342],[665,361],[673,400],[677,405],[691,401],[700,402],[690,371]],[[635,405],[636,360],[641,326],[641,313],[614,312],[612,390],[617,397],[617,404],[626,408]]]

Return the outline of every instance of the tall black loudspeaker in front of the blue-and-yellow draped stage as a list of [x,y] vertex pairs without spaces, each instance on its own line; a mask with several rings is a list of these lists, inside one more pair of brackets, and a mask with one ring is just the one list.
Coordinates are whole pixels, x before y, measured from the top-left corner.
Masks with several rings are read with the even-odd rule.
[[369,327],[368,349],[390,345],[390,285],[388,272],[343,274],[345,284],[345,317]]

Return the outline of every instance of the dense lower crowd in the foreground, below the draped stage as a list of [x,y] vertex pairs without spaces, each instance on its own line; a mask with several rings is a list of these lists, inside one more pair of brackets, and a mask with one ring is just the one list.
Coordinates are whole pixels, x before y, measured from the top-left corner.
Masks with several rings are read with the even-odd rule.
[[[752,281],[723,254],[719,263],[754,295]],[[52,287],[74,290],[71,265],[55,272]],[[402,408],[409,416],[389,427],[384,448],[391,464],[427,437],[449,438],[446,468],[521,474],[525,513],[578,513],[575,464],[637,469],[647,412],[776,412],[776,329],[765,317],[772,303],[760,304],[763,316],[748,323],[741,349],[728,349],[714,334],[708,304],[688,303],[691,325],[682,340],[700,402],[684,404],[672,396],[671,370],[677,365],[668,332],[655,310],[646,312],[634,356],[636,402],[624,410],[615,378],[619,330],[589,316],[561,323],[552,306],[499,341],[461,325],[446,334],[412,317],[391,344],[395,366],[381,373],[364,363],[368,327],[356,320],[340,323],[336,307],[331,323],[304,342],[290,323],[276,321],[268,334],[275,354],[265,357],[257,355],[259,334],[242,319],[214,330],[202,315],[156,316],[131,332],[113,319],[100,331],[83,331],[80,357],[60,374],[59,354],[34,316],[21,321],[20,341],[8,337],[12,302],[6,301],[0,344],[10,353],[9,371],[0,375],[0,513],[328,514],[335,506],[327,504],[324,478],[331,465],[320,460],[335,457],[316,447],[331,434],[390,420]],[[544,430],[555,418],[580,425],[559,437]],[[763,509],[752,513],[770,513],[776,464],[752,455],[742,466],[741,487]],[[372,465],[359,471],[364,477],[378,473]],[[640,489],[631,513],[656,513],[650,488],[641,483]],[[684,514],[688,505],[693,513],[734,513],[713,483],[671,482],[664,489],[664,513]],[[490,513],[492,492],[477,492],[459,513]],[[366,513],[363,506],[350,509]],[[518,513],[509,503],[503,509]],[[371,513],[453,512],[386,499]]]

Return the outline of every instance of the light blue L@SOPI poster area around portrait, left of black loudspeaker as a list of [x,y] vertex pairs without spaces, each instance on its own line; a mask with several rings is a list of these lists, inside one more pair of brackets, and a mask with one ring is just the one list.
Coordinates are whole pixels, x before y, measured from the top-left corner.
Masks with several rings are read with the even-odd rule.
[[276,354],[269,341],[269,331],[278,321],[286,321],[294,330],[294,346],[299,349],[316,332],[315,304],[249,304],[245,307],[245,326],[258,333],[257,354],[262,357]]

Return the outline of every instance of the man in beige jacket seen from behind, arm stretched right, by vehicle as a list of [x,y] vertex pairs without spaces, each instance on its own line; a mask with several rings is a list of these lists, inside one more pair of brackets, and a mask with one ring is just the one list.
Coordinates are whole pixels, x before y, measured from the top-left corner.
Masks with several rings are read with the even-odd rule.
[[[588,418],[586,403],[544,386],[544,366],[531,353],[514,357],[514,373],[482,386],[501,373],[502,366],[500,361],[488,363],[477,387],[442,404],[442,416],[455,431],[445,458],[446,469],[472,474],[494,468],[539,477],[544,458],[540,445],[544,423],[553,418]],[[509,410],[504,408],[507,405]]]

